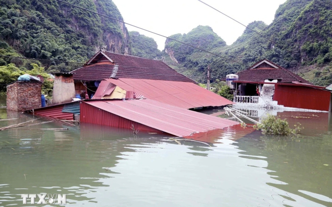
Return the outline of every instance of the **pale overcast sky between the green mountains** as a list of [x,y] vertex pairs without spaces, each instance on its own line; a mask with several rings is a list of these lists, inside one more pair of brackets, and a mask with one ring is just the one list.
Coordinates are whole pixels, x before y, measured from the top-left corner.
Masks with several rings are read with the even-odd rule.
[[[270,24],[286,0],[202,0],[244,25],[253,21]],[[188,33],[199,25],[210,26],[227,45],[241,36],[245,27],[198,0],[113,0],[124,22],[164,35]],[[153,38],[163,50],[166,38],[126,25],[128,31]]]

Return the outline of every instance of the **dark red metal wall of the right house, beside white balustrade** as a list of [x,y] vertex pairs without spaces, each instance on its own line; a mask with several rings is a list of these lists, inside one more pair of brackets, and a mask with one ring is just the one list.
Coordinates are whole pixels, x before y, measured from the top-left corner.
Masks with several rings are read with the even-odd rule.
[[273,96],[274,101],[286,107],[328,111],[331,92],[290,85],[276,85]]

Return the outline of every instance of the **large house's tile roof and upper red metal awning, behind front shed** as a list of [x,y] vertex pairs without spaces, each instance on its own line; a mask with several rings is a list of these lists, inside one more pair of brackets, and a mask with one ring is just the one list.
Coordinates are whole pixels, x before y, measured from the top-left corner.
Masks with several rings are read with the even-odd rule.
[[93,99],[135,95],[186,109],[233,104],[160,60],[99,51],[83,67],[70,73],[76,93],[87,91]]

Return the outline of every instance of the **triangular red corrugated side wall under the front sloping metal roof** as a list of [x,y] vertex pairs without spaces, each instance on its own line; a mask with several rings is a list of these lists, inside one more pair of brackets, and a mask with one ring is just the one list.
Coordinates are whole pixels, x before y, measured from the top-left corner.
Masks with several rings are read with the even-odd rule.
[[87,103],[81,102],[80,122],[100,124],[118,128],[130,129],[132,124],[140,131],[150,131],[162,133],[162,131],[133,122],[118,115],[104,111]]

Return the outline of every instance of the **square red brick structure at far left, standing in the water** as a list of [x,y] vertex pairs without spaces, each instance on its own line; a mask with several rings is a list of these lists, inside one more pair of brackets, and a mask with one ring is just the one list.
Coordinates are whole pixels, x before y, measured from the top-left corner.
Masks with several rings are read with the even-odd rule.
[[7,110],[23,111],[41,107],[41,82],[15,82],[7,86]]

